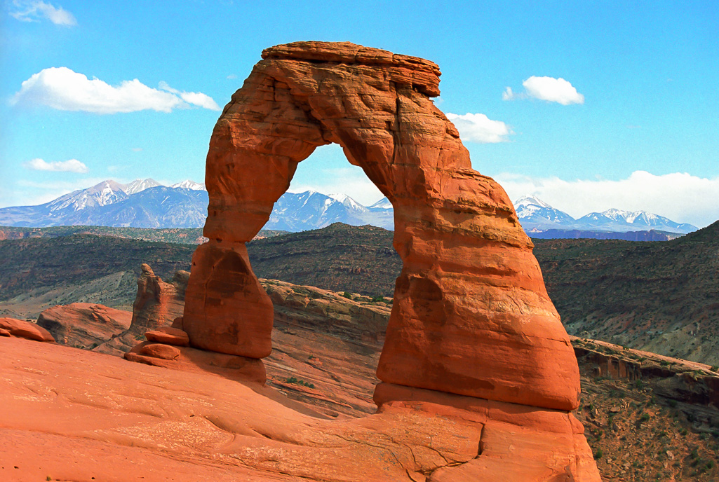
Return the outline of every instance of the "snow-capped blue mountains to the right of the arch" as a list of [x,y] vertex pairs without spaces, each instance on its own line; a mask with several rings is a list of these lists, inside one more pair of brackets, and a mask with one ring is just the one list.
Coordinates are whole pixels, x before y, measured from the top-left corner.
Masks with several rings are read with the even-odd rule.
[[646,211],[608,209],[603,213],[589,213],[582,218],[574,219],[535,196],[523,196],[515,201],[514,206],[519,222],[530,234],[548,230],[626,233],[652,229],[686,234],[697,230],[697,227],[691,224],[676,223],[664,216]]

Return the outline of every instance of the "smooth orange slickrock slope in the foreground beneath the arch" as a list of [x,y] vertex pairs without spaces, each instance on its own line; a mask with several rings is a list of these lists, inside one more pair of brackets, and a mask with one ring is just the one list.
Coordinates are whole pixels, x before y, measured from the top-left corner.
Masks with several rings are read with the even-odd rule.
[[256,384],[17,338],[0,374],[1,480],[599,481],[549,409],[444,394],[323,420]]

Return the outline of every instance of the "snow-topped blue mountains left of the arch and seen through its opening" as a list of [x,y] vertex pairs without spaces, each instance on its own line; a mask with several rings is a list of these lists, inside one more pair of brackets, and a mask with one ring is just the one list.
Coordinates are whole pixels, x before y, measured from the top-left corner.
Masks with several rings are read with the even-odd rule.
[[[0,226],[201,228],[208,203],[205,185],[192,180],[171,186],[153,179],[125,185],[106,180],[49,203],[1,208]],[[285,193],[265,229],[307,231],[337,222],[393,229],[394,213],[387,198],[367,207],[344,194]]]

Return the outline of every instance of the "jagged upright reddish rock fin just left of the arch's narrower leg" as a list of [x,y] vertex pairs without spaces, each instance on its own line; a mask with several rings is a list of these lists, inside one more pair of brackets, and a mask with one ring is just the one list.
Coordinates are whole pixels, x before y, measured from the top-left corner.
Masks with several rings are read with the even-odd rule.
[[122,355],[137,345],[145,337],[146,331],[171,325],[175,318],[182,316],[189,277],[188,272],[178,271],[171,282],[164,282],[149,264],[142,264],[129,328],[96,350]]

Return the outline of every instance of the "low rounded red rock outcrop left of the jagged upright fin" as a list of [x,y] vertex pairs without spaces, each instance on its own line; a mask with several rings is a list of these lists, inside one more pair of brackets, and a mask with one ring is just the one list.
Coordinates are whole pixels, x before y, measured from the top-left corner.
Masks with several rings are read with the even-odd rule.
[[60,344],[94,348],[129,328],[132,313],[95,303],[57,305],[40,313],[37,325]]

